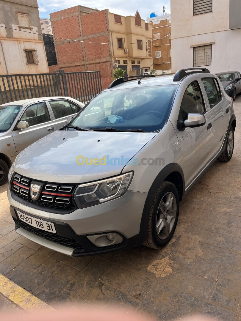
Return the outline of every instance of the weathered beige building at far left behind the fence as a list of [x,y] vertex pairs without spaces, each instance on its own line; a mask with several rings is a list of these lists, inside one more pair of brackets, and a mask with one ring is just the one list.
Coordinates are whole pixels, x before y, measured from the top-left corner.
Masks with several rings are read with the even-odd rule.
[[0,74],[48,73],[37,0],[0,0],[0,8]]

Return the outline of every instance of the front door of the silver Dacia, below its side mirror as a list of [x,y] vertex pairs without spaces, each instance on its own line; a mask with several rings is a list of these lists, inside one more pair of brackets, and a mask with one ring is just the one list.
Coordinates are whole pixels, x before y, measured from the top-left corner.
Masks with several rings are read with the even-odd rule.
[[[179,127],[178,124],[183,124],[189,113],[204,115],[206,123],[194,128]],[[209,108],[205,107],[197,80],[190,83],[185,90],[175,130],[183,153],[182,168],[186,189],[210,162],[212,150],[212,118]]]

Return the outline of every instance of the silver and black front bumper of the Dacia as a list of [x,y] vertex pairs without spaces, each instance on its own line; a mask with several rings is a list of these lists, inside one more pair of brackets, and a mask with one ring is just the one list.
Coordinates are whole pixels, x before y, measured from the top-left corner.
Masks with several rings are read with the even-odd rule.
[[[32,241],[70,256],[105,253],[138,245],[140,223],[147,194],[127,191],[112,201],[78,209],[69,214],[40,211],[13,199],[8,189],[10,212],[16,232]],[[15,197],[14,197],[15,198]],[[57,234],[42,231],[20,221],[15,210],[33,217],[53,222]],[[89,235],[115,232],[123,238],[119,244],[97,247]]]

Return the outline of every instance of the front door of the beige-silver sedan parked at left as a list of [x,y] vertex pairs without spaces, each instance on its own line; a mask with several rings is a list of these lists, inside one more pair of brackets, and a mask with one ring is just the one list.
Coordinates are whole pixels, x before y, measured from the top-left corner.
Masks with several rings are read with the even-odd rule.
[[21,152],[24,148],[40,138],[57,130],[57,126],[55,125],[52,115],[49,113],[45,101],[40,101],[28,106],[19,118],[19,121],[22,120],[28,122],[29,127],[21,130],[15,127],[13,130],[13,141],[17,153]]

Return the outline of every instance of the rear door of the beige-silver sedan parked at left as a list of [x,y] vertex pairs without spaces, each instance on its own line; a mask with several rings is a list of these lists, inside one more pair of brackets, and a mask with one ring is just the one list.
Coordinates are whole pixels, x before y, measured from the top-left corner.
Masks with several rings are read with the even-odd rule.
[[67,99],[49,100],[49,106],[55,118],[57,129],[63,127],[69,117],[74,117],[81,107]]

